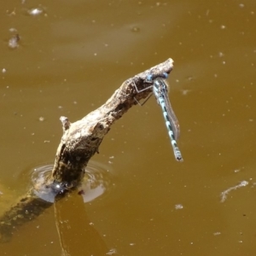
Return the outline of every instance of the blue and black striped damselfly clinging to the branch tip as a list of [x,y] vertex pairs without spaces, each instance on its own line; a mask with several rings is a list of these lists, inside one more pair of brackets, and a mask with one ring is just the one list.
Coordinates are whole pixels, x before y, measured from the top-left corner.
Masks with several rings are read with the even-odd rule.
[[[181,152],[179,148],[177,147],[177,139],[180,134],[179,124],[177,121],[177,117],[175,113],[173,112],[172,105],[169,101],[168,97],[168,85],[166,84],[167,74],[163,73],[162,75],[158,77],[148,76],[148,82],[153,83],[148,88],[153,87],[153,93],[156,98],[156,101],[162,108],[162,112],[164,115],[164,119],[166,121],[166,128],[168,131],[168,135],[171,139],[173,153],[177,161],[183,161],[183,157],[181,155]],[[135,88],[137,90],[137,86],[135,85]],[[148,90],[148,88],[145,88],[143,90]],[[142,90],[137,92],[141,92]]]

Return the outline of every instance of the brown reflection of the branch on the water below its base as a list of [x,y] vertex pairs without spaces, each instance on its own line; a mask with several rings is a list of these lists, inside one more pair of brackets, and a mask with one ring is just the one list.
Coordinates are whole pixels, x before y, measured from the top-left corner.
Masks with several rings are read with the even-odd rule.
[[[84,201],[77,193],[67,196],[65,200],[56,201],[55,224],[59,234],[62,254],[68,255],[106,255],[108,247],[102,236],[94,228],[94,224],[86,214],[76,214],[78,209],[84,208]],[[67,209],[73,209],[68,211]],[[84,246],[84,243],[86,245]]]

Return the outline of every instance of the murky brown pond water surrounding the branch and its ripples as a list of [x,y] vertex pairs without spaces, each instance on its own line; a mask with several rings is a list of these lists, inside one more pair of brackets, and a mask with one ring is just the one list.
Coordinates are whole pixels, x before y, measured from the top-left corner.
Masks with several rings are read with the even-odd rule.
[[61,115],[82,118],[168,57],[184,162],[150,99],[93,158],[107,166],[110,193],[59,202],[1,255],[255,255],[255,1],[2,2],[1,203],[53,162]]

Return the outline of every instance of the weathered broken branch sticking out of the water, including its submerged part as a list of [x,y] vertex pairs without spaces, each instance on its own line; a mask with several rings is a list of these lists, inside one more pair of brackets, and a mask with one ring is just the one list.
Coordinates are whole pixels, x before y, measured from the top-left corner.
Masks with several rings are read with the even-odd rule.
[[[103,137],[110,130],[110,126],[121,118],[129,108],[147,98],[151,93],[151,89],[143,90],[148,87],[148,75],[157,76],[162,73],[170,73],[172,68],[173,61],[168,59],[131,79],[127,79],[102,107],[79,121],[70,123],[66,117],[61,117],[63,136],[57,149],[52,173],[49,177],[45,177],[45,180],[38,181],[15,207],[10,208],[0,218],[0,241],[8,241],[15,227],[36,218],[50,206],[49,202],[38,199],[35,194],[50,193],[61,198],[77,188],[84,177],[85,166],[90,158],[98,153],[98,148]],[[137,93],[134,84],[138,90],[143,90],[143,92]],[[135,100],[135,96],[137,100]]]

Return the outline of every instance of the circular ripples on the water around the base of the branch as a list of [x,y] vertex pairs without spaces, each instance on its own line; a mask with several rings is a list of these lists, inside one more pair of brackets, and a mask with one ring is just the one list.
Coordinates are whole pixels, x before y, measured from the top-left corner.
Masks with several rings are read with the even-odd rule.
[[[52,171],[53,165],[37,166],[32,171],[32,183],[44,183],[44,178]],[[112,184],[112,173],[108,166],[96,161],[90,161],[85,168],[84,179],[78,188],[79,195],[83,196],[84,202],[94,201],[102,195],[108,195]],[[57,192],[52,189],[34,189],[34,193],[41,199],[49,202],[55,201]]]

